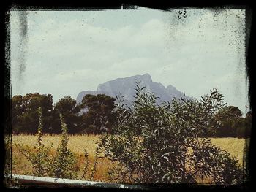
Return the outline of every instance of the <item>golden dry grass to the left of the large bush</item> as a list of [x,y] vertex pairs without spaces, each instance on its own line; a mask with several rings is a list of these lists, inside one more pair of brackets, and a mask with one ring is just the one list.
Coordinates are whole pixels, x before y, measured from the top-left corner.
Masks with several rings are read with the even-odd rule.
[[[45,135],[42,137],[42,141],[46,147],[53,145],[53,149],[59,145],[61,141],[60,135]],[[28,145],[33,147],[37,142],[37,136],[35,135],[15,135],[12,137],[12,173],[13,174],[28,174],[31,172],[31,164],[20,153],[15,144]],[[84,149],[87,150],[89,154],[89,169],[93,166],[95,151],[97,147],[97,142],[99,142],[99,136],[97,135],[70,135],[69,136],[69,149],[75,153],[76,158],[78,158],[78,163],[75,165],[75,169],[78,171],[78,175],[83,174],[83,167],[85,164]],[[111,162],[108,159],[103,159],[99,161],[98,169],[94,175],[93,180],[96,181],[106,181],[107,176],[105,173],[108,171],[108,165]]]

